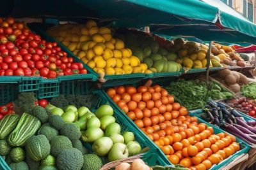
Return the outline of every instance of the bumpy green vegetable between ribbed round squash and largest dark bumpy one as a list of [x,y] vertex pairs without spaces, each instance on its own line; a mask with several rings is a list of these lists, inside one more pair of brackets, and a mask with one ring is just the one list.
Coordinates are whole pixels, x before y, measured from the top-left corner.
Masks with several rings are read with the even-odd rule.
[[57,157],[61,151],[72,148],[72,143],[67,136],[56,136],[51,140],[51,155]]

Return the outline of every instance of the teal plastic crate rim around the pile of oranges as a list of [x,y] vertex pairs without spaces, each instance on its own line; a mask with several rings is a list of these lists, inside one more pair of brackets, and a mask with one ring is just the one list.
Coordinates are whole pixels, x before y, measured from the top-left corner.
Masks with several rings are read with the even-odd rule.
[[[118,111],[118,113],[119,113],[120,115],[122,115],[122,117],[124,117],[125,119],[127,119],[127,121],[128,121],[130,124],[132,124],[132,126],[133,126],[135,129],[137,129],[138,131],[140,131],[140,129],[137,127],[137,125],[134,124],[134,122],[133,122],[129,117],[127,117],[127,115],[113,102],[113,100],[108,96],[108,94],[106,94],[106,92],[104,92],[104,91],[100,91],[100,92],[102,93],[102,95],[105,96],[106,100],[109,101],[109,104],[110,104],[113,108],[116,108],[116,110]],[[214,129],[214,133],[225,132],[225,131],[219,129],[218,127],[215,127],[214,125],[208,124],[207,122],[205,122],[205,121],[202,120],[201,118],[198,118],[198,120],[199,120],[199,122],[203,122],[203,123],[207,124],[207,126],[212,127],[212,128]],[[140,132],[141,132],[141,131],[140,131]],[[148,138],[144,133],[143,133],[143,136],[145,136],[146,138]],[[236,152],[234,155],[228,157],[228,159],[225,159],[225,160],[221,161],[220,164],[218,164],[218,165],[216,165],[216,166],[214,166],[214,167],[211,167],[211,170],[220,169],[220,167],[225,166],[225,165],[227,165],[228,163],[232,162],[233,159],[235,159],[236,157],[238,157],[238,156],[241,155],[242,153],[247,153],[247,152],[248,152],[248,150],[249,150],[250,147],[249,147],[246,143],[244,143],[244,141],[241,141],[241,139],[239,139],[239,138],[236,138],[236,139],[237,139],[237,141],[241,144],[241,147],[243,147],[243,148],[242,148],[241,150],[239,150],[239,152]],[[149,139],[149,140],[150,140],[150,139]],[[150,142],[151,142],[155,147],[157,147],[157,146],[154,144],[153,141],[150,141]],[[157,148],[158,148],[158,147],[157,147]],[[159,152],[160,152],[159,156],[160,156],[163,160],[169,162],[169,160],[167,159],[167,157],[164,155],[164,153],[163,153],[160,149],[159,149]],[[169,162],[169,164],[171,164],[171,163]],[[172,165],[172,164],[171,164],[171,165]]]

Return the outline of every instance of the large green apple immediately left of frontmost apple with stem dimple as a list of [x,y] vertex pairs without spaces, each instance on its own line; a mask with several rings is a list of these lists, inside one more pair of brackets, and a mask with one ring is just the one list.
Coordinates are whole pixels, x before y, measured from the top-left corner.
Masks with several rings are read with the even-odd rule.
[[92,150],[93,152],[96,152],[97,155],[105,156],[108,154],[112,146],[113,146],[113,141],[110,138],[104,136],[97,139],[93,143]]

